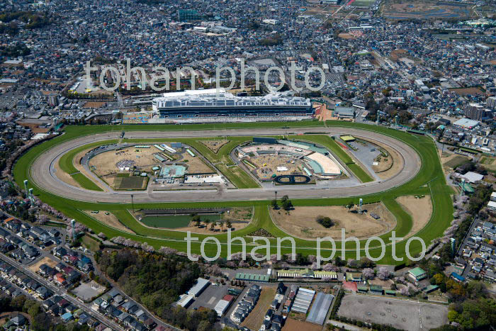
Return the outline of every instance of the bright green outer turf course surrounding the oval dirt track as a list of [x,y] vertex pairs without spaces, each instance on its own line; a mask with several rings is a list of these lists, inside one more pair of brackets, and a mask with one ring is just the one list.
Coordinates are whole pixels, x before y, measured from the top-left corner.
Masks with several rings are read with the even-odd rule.
[[[232,124],[230,124],[232,125]],[[212,128],[232,128],[230,125],[181,125],[181,129],[186,130],[207,130]],[[274,127],[292,127],[292,125],[303,127],[322,125],[318,122],[306,122],[306,123],[252,123],[250,127],[257,128],[257,125],[263,128],[274,128]],[[270,126],[272,125],[272,126]],[[375,193],[368,196],[361,196],[364,203],[372,203],[383,201],[388,209],[397,218],[397,226],[395,231],[397,231],[397,237],[401,237],[410,231],[412,228],[412,219],[410,215],[405,213],[405,211],[400,208],[398,203],[395,202],[395,198],[402,195],[416,195],[416,194],[430,194],[433,203],[433,214],[429,223],[419,232],[417,236],[422,237],[426,244],[429,245],[434,238],[442,235],[444,230],[449,226],[452,220],[453,207],[451,202],[450,194],[451,189],[446,186],[444,181],[444,175],[441,171],[441,165],[439,164],[439,157],[436,152],[434,142],[431,138],[424,136],[410,135],[405,132],[398,130],[393,130],[389,128],[384,128],[375,125],[363,125],[356,123],[346,123],[346,122],[327,122],[327,126],[337,126],[337,127],[353,127],[361,128],[362,130],[373,130],[375,132],[381,133],[383,135],[388,135],[395,139],[401,140],[407,143],[412,148],[414,148],[422,159],[422,166],[419,173],[412,180],[408,181],[401,186],[389,191],[383,191],[381,193]],[[234,128],[239,128],[239,125],[233,125]],[[245,128],[243,125],[242,128]],[[129,130],[178,130],[176,125],[119,125],[119,126],[77,126],[77,127],[67,127],[65,129],[64,135],[52,139],[47,142],[33,147],[25,155],[23,155],[16,164],[14,169],[14,177],[18,184],[22,184],[24,179],[30,179],[29,169],[30,164],[35,160],[40,154],[45,150],[53,147],[61,142],[78,138],[81,135],[91,135],[93,133],[102,133],[107,131],[129,131]],[[203,144],[198,144],[203,145]],[[205,147],[208,150],[208,147]],[[203,150],[199,150],[203,152]],[[211,152],[211,151],[210,151]],[[215,153],[214,153],[215,154]],[[150,229],[146,228],[133,218],[128,212],[131,208],[130,201],[123,201],[123,203],[91,203],[91,202],[81,202],[67,199],[64,197],[56,196],[55,194],[43,191],[42,189],[35,186],[35,183],[30,181],[30,186],[33,186],[35,194],[40,197],[40,199],[51,206],[57,208],[62,213],[67,215],[69,218],[75,218],[78,222],[88,225],[89,228],[94,230],[94,232],[103,232],[108,237],[123,236],[129,237],[130,239],[137,240],[140,242],[147,242],[154,247],[173,247],[179,250],[186,250],[186,242],[183,238],[185,237],[184,232],[178,232],[174,230],[161,230],[161,229]],[[352,196],[348,198],[322,198],[322,199],[292,199],[295,206],[331,206],[331,205],[344,205],[346,203],[358,203],[358,196]],[[232,236],[245,237],[247,242],[252,242],[251,237],[247,235],[254,232],[254,230],[264,228],[266,231],[270,232],[274,237],[286,237],[285,232],[278,229],[276,225],[271,221],[267,208],[269,208],[269,201],[212,201],[212,202],[188,202],[188,203],[135,203],[135,208],[199,208],[199,207],[234,207],[234,206],[254,206],[254,218],[250,225],[242,230],[238,230],[232,233]],[[119,220],[128,226],[131,230],[136,232],[136,235],[130,235],[126,232],[122,232],[118,229],[111,228],[110,226],[100,223],[94,218],[89,217],[82,211],[84,210],[106,210],[114,213]],[[193,237],[199,237],[203,239],[209,235],[197,235],[193,234]],[[227,242],[227,235],[225,233],[219,235],[210,235],[217,237],[222,243],[222,254],[225,257],[227,255],[227,249],[225,247],[225,242]],[[386,244],[388,243],[387,238],[390,237],[389,234],[382,235],[385,238]],[[275,254],[276,244],[275,239],[269,239],[271,242],[271,254]],[[297,252],[302,254],[315,254],[315,241],[312,240],[301,240],[295,238]],[[363,248],[365,241],[361,242],[361,248]],[[291,252],[289,247],[287,247],[288,242],[283,242],[283,247],[281,251],[283,253]],[[371,242],[371,247],[376,247],[378,242]],[[193,252],[199,252],[199,243],[193,243],[191,245]],[[337,249],[341,248],[341,242],[336,242]],[[330,247],[330,245],[323,244],[322,247]],[[346,257],[354,257],[354,242],[346,243]],[[247,247],[248,251],[252,247]],[[232,251],[236,252],[239,250],[238,242],[232,245]],[[410,245],[410,252],[412,254],[419,252],[420,245],[417,241],[412,242]],[[209,242],[205,245],[205,252],[214,255],[216,251],[216,245],[213,242]],[[378,249],[371,249],[372,256],[378,256]],[[398,243],[396,245],[396,252],[398,256],[405,256],[405,241]],[[261,252],[261,251],[259,251]],[[398,264],[399,262],[393,261],[391,257],[390,246],[386,247],[385,257],[381,259],[379,263],[383,264]],[[340,254],[340,252],[337,252]]]

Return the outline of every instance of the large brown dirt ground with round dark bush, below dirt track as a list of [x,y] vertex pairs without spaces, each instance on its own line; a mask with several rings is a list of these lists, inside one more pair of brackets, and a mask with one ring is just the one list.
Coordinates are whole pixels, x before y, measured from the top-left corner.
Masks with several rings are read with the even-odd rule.
[[[359,214],[349,212],[344,206],[326,207],[295,207],[290,214],[285,211],[274,211],[270,214],[274,223],[283,231],[295,237],[315,239],[316,237],[330,236],[341,240],[341,229],[346,229],[346,236],[366,239],[373,235],[381,235],[392,230],[396,219],[383,203],[371,203],[363,206],[367,213]],[[376,213],[381,218],[374,220],[370,213]],[[317,223],[318,215],[328,216],[334,221],[334,226],[324,228]]]

